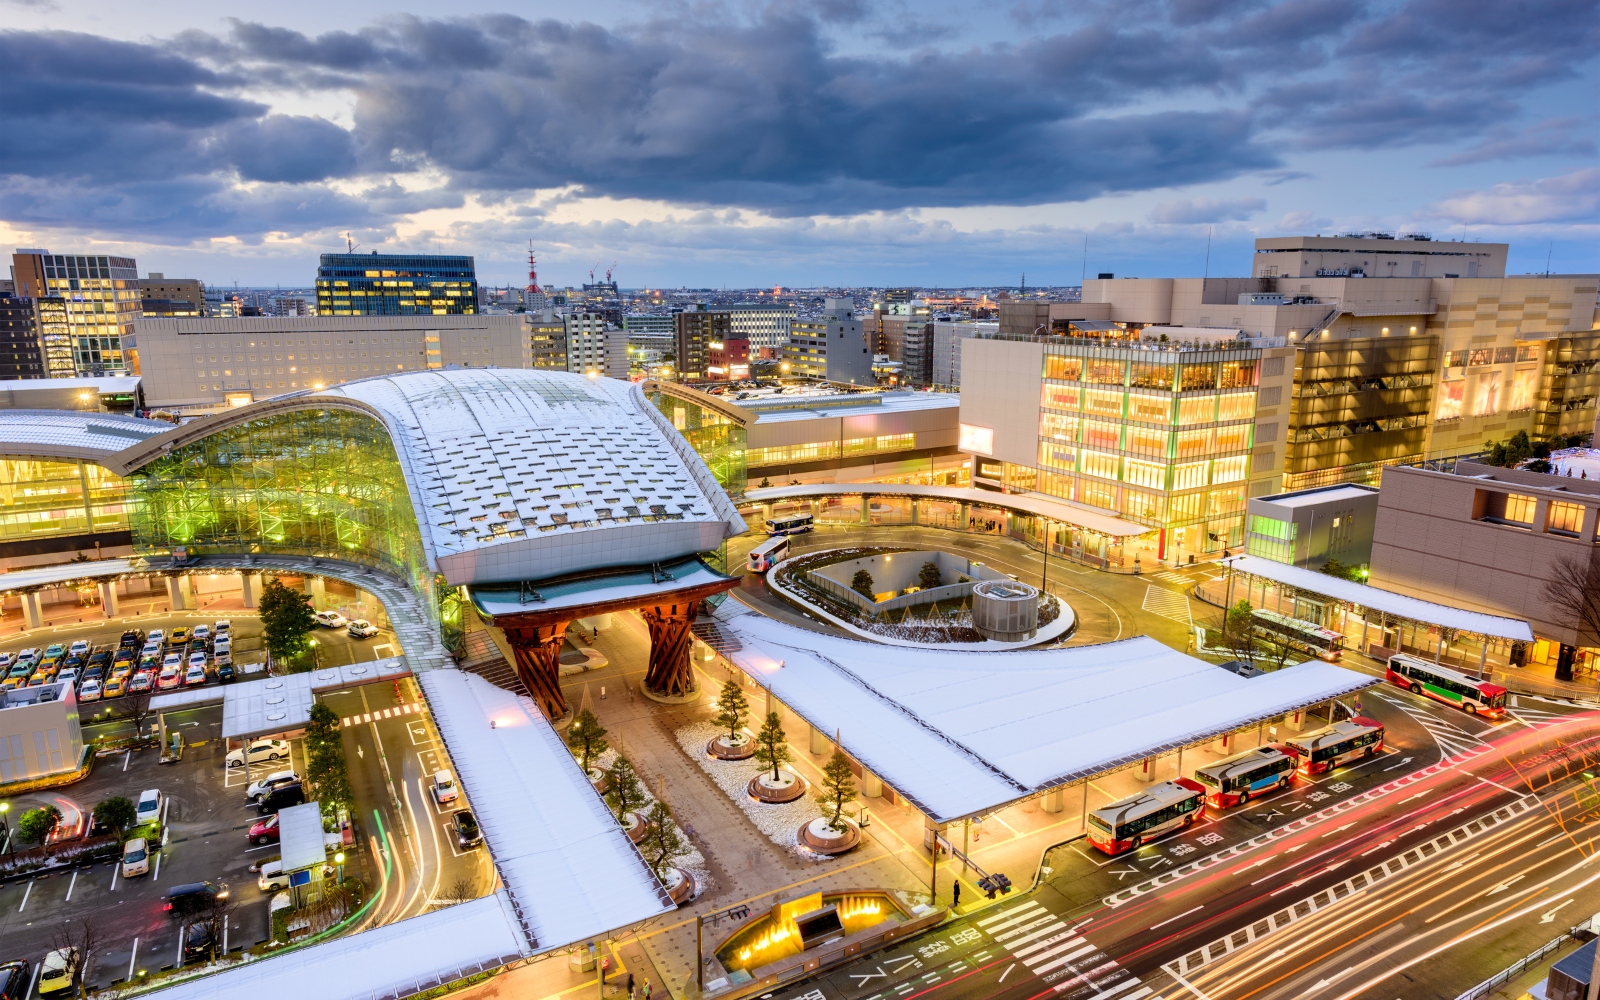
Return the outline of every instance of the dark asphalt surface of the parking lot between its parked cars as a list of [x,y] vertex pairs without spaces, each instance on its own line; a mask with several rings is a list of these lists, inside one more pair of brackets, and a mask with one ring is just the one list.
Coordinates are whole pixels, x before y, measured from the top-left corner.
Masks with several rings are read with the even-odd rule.
[[[147,974],[179,966],[179,922],[163,910],[168,890],[187,882],[226,883],[232,904],[224,917],[229,950],[253,947],[267,939],[269,894],[256,888],[248,870],[274,858],[277,845],[248,843],[250,826],[258,819],[245,803],[245,776],[222,766],[226,749],[218,739],[221,709],[200,709],[170,717],[168,725],[189,734],[190,747],[173,765],[157,765],[155,750],[134,750],[98,760],[82,782],[22,795],[11,800],[11,814],[62,800],[85,813],[112,795],[138,800],[144,789],[166,795],[165,845],[152,851],[150,872],[122,878],[117,864],[19,878],[0,885],[0,960],[27,958],[38,963],[54,944],[58,928],[67,920],[93,920],[101,947],[91,957],[85,982],[107,987],[141,970]],[[298,741],[291,742],[293,765],[302,768]],[[259,765],[266,773],[283,766]],[[62,810],[66,811],[66,810]]]

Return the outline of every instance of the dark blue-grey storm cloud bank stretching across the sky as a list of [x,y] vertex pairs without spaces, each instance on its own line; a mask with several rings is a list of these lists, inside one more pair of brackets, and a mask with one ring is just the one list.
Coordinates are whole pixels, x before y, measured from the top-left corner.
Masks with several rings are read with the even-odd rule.
[[[781,216],[1086,200],[1270,179],[1282,149],[1498,155],[1531,90],[1600,50],[1594,0],[1027,0],[1016,40],[963,45],[942,26],[877,50],[838,40],[922,8],[672,11],[322,35],[235,21],[152,43],[0,32],[0,208],[250,238],[530,189]],[[354,99],[354,122],[242,96],[274,88]],[[390,178],[414,170],[442,187]],[[368,190],[328,186],[346,178]]]

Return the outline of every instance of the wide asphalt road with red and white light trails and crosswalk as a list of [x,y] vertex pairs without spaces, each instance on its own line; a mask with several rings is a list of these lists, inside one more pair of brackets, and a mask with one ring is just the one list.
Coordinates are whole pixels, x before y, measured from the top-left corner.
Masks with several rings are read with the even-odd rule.
[[1523,699],[1491,725],[1397,688],[1362,704],[1379,758],[1123,858],[1070,842],[1037,890],[771,997],[1454,998],[1600,909],[1578,888],[1600,872],[1573,869],[1594,853],[1600,797],[1573,774],[1600,717]]

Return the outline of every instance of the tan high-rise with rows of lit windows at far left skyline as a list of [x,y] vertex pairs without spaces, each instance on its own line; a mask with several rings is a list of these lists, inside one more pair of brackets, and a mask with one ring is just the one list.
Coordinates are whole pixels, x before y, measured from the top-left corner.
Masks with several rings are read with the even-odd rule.
[[61,299],[72,371],[58,371],[46,339],[50,374],[115,374],[139,371],[133,322],[139,318],[139,267],[133,258],[53,254],[18,250],[11,254],[16,293],[30,299]]

